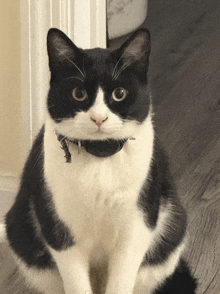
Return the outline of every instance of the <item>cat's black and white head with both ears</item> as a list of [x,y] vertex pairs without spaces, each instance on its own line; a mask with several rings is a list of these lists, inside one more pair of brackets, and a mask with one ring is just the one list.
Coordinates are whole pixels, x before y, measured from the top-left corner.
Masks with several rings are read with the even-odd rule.
[[149,32],[136,31],[116,50],[82,50],[60,30],[50,29],[47,47],[47,108],[56,131],[80,140],[134,136],[150,108]]

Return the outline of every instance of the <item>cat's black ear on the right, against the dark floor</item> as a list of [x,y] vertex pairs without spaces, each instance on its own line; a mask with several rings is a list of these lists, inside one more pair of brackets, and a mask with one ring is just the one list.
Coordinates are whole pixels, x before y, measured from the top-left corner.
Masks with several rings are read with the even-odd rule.
[[150,32],[147,29],[139,29],[115,51],[118,60],[115,74],[127,67],[136,64],[140,69],[147,71],[151,49]]

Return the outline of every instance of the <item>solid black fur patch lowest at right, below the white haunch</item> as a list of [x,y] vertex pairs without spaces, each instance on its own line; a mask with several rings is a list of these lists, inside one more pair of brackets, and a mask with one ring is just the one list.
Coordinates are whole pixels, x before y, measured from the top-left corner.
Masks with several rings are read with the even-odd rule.
[[195,294],[196,280],[185,261],[181,260],[174,274],[156,290],[155,294]]

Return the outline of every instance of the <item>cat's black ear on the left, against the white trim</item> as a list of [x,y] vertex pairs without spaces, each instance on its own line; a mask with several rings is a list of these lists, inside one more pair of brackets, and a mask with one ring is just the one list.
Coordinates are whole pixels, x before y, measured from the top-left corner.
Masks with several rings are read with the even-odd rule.
[[81,67],[83,54],[75,44],[60,30],[50,29],[47,35],[47,52],[51,71],[59,69],[63,62]]

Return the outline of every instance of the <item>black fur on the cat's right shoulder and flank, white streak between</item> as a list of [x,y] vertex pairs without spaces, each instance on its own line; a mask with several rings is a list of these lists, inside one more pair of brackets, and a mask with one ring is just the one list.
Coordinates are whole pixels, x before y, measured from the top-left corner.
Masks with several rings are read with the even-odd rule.
[[138,200],[138,206],[144,211],[146,225],[152,230],[155,229],[159,209],[166,209],[170,204],[172,214],[166,223],[164,234],[161,234],[149,248],[143,265],[165,261],[181,243],[186,230],[186,214],[178,201],[166,155],[156,138],[150,174]]

